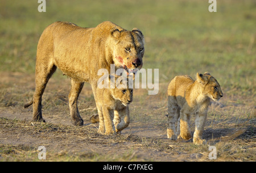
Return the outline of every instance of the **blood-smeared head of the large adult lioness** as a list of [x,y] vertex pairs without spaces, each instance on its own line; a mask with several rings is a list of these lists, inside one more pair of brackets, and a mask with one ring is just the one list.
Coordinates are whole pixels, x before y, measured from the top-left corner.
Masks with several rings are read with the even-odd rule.
[[138,28],[133,31],[123,29],[112,31],[114,39],[113,61],[117,68],[122,67],[127,73],[136,73],[141,69],[144,55],[144,36]]

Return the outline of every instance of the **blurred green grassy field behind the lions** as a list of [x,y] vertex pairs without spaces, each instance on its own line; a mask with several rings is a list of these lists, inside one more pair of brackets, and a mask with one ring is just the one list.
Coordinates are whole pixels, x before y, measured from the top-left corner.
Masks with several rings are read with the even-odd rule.
[[39,37],[53,22],[96,27],[110,20],[127,30],[141,29],[143,68],[159,69],[160,83],[209,71],[224,91],[255,94],[256,1],[217,0],[217,12],[197,0],[46,0],[46,12],[39,12],[39,5],[0,0],[0,71],[34,74]]

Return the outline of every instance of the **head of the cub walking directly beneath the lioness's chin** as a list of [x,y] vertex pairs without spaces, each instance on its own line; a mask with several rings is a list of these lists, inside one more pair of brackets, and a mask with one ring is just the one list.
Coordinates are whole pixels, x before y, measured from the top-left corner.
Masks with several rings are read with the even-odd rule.
[[133,88],[129,88],[129,77],[110,75],[110,81],[115,82],[115,88],[112,89],[113,98],[121,101],[124,106],[128,106],[133,101]]

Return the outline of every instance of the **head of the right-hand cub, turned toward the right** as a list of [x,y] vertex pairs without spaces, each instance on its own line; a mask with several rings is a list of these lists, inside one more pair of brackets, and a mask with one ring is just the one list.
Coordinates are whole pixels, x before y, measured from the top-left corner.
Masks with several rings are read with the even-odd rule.
[[196,79],[202,85],[204,95],[209,96],[214,101],[218,101],[223,96],[220,84],[209,72],[197,73]]

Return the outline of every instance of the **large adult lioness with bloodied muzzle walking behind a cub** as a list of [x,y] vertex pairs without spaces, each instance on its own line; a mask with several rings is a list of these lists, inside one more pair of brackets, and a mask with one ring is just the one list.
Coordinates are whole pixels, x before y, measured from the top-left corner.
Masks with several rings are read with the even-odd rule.
[[84,82],[92,86],[96,97],[99,69],[107,69],[110,64],[116,69],[123,68],[135,72],[142,67],[144,37],[138,28],[126,31],[112,22],[102,22],[95,28],[81,28],[68,22],[55,22],[44,29],[38,43],[35,68],[35,93],[33,120],[44,121],[42,116],[42,95],[51,75],[58,67],[71,77],[69,109],[74,125],[83,125],[77,98]]

